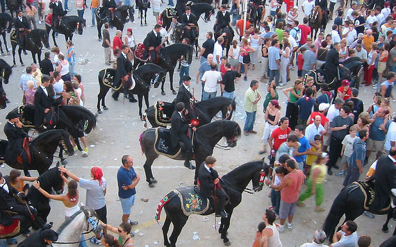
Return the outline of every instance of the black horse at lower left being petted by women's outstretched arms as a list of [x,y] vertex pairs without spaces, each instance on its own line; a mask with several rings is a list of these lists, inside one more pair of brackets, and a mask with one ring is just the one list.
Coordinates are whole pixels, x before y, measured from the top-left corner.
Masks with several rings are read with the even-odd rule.
[[[40,182],[40,187],[47,191],[49,194],[51,194],[52,191],[55,191],[56,194],[63,193],[63,186],[65,182],[60,177],[58,165],[42,173],[37,180]],[[51,206],[49,205],[49,198],[43,196],[41,192],[33,186],[29,187],[26,198],[28,199],[28,201],[31,202],[33,207],[35,207],[38,212],[38,216],[44,222],[47,222],[47,216],[51,211]]]

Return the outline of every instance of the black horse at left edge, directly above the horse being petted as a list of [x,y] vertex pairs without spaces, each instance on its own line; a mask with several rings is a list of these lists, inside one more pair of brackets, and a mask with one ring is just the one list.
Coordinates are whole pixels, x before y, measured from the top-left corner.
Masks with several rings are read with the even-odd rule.
[[[69,155],[74,154],[69,133],[65,130],[48,130],[35,139],[30,144],[31,164],[29,170],[37,170],[39,174],[47,171],[53,162],[53,154],[58,146],[65,146]],[[22,164],[16,161],[16,157],[8,157],[7,153],[15,153],[8,149],[8,141],[0,140],[0,155],[5,158],[5,162],[14,169],[23,169]],[[26,175],[26,174],[25,174]]]

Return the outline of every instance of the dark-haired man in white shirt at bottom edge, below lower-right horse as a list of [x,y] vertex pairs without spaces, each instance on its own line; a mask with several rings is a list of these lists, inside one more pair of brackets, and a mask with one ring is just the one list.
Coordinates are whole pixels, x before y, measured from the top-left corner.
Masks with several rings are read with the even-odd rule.
[[354,221],[347,221],[341,225],[341,230],[334,233],[333,244],[330,247],[355,247],[358,246],[358,225]]

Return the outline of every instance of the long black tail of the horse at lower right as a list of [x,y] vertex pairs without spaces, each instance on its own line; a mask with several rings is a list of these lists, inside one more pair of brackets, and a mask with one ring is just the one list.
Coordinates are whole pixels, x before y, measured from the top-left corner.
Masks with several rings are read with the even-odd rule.
[[341,189],[340,194],[334,199],[333,205],[331,205],[330,212],[324,220],[322,230],[326,232],[327,238],[331,239],[333,237],[334,230],[338,222],[340,221],[343,214],[345,214],[345,204],[349,196],[350,186]]

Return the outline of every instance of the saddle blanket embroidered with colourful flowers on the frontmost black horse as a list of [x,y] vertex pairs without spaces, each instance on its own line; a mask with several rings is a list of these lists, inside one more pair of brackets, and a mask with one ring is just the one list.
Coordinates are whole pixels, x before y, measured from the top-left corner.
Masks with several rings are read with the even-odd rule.
[[209,200],[201,197],[196,186],[179,187],[174,189],[173,192],[179,196],[181,210],[186,216],[203,214],[209,208]]

